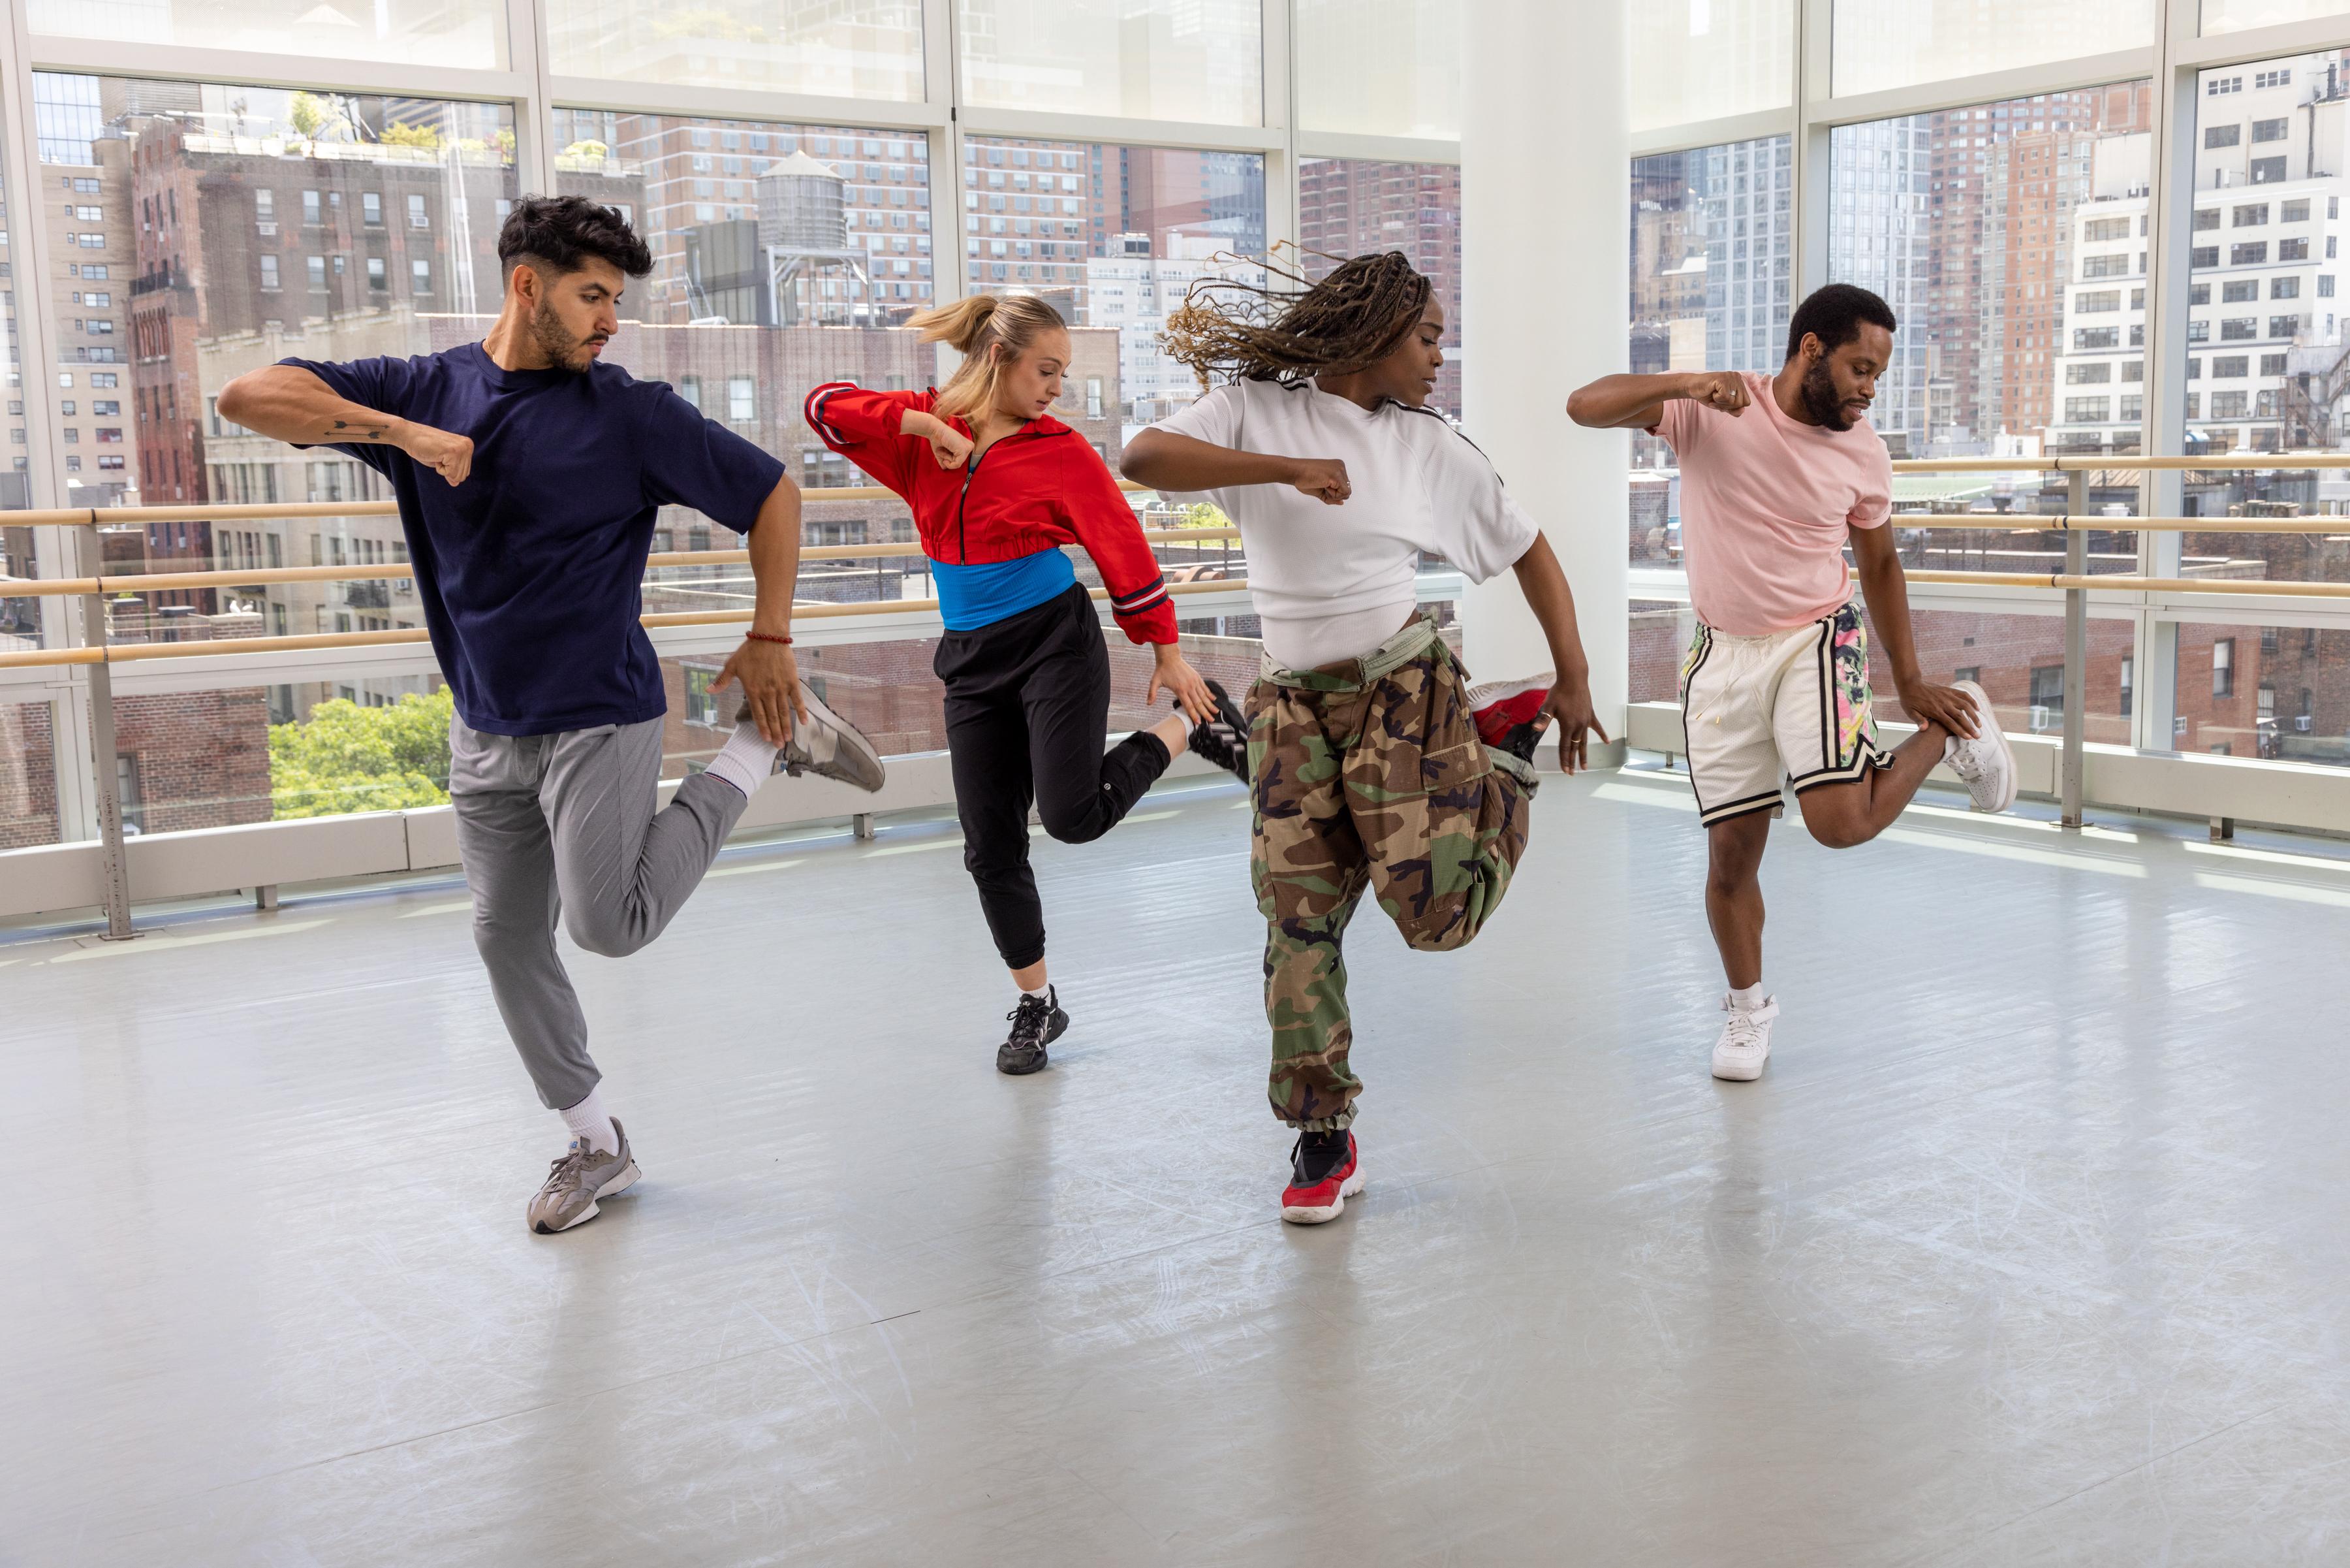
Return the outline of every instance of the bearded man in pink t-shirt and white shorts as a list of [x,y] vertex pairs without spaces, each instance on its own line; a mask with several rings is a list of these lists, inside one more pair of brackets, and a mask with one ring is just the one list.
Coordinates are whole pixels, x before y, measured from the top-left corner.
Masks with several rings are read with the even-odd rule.
[[[1713,1077],[1755,1079],[1777,997],[1762,990],[1762,849],[1779,790],[1828,849],[1866,844],[1908,806],[1936,762],[1976,811],[2016,802],[2016,759],[1974,682],[1918,670],[1908,588],[1887,536],[1892,463],[1868,428],[1894,350],[1894,313],[1868,289],[1805,299],[1777,376],[1704,371],[1603,376],[1567,400],[1600,430],[1650,430],[1680,458],[1680,538],[1697,637],[1680,670],[1690,785],[1706,825],[1706,919],[1723,952],[1730,1020]],[[1918,733],[1878,745],[1868,635],[1845,545]]]

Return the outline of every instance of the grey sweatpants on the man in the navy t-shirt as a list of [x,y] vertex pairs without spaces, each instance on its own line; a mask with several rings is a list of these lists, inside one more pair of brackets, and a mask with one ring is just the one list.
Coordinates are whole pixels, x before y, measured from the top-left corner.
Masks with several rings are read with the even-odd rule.
[[472,889],[472,940],[505,1032],[548,1110],[602,1077],[555,954],[555,922],[588,952],[651,943],[703,879],[750,799],[696,773],[660,811],[660,719],[484,736],[449,722],[449,804]]

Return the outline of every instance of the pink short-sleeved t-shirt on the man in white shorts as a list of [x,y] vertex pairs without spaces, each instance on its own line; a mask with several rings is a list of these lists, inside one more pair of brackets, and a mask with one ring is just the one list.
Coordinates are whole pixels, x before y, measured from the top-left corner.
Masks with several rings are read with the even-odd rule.
[[1772,378],[1723,414],[1690,397],[1664,404],[1657,435],[1680,456],[1680,555],[1697,618],[1732,637],[1819,621],[1852,597],[1845,531],[1875,529],[1894,505],[1885,442],[1807,425],[1779,407]]

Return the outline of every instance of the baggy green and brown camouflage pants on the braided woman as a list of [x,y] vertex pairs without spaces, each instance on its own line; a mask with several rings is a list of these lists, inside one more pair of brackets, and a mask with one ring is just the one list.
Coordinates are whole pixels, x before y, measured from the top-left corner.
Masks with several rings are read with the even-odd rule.
[[1469,943],[1525,853],[1535,771],[1488,752],[1469,679],[1431,621],[1370,658],[1321,670],[1267,661],[1248,691],[1255,780],[1250,882],[1267,919],[1264,1016],[1274,1114],[1307,1131],[1354,1121],[1354,1023],[1340,943],[1365,889],[1422,952]]

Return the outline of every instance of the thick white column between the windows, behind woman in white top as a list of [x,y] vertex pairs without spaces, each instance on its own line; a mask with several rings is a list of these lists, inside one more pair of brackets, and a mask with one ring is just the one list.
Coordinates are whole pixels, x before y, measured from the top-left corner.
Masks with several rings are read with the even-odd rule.
[[[1631,437],[1567,423],[1567,393],[1629,367],[1624,0],[1462,12],[1464,428],[1558,552],[1622,738]],[[1478,679],[1551,663],[1511,574],[1466,592],[1462,625]]]

